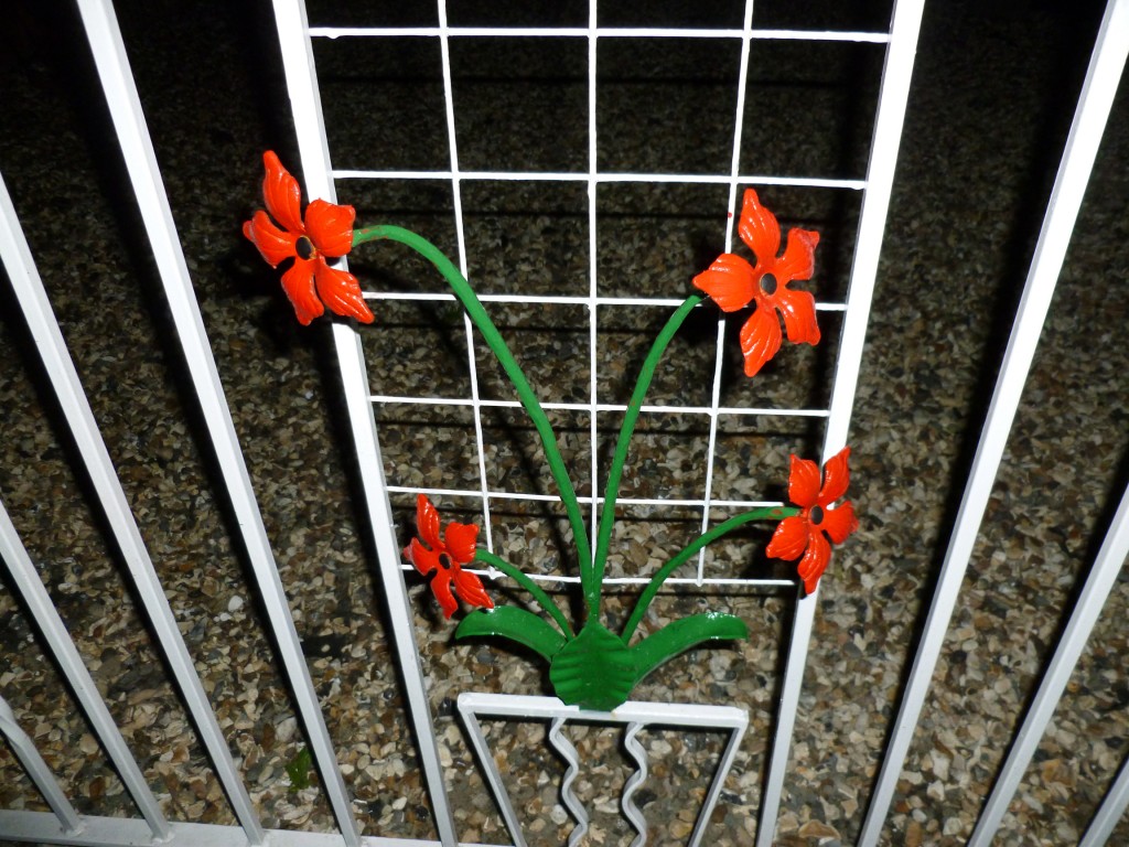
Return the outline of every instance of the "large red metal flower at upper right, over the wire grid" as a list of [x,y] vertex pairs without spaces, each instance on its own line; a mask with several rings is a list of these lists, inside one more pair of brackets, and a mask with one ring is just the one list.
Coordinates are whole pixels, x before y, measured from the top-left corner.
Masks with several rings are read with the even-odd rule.
[[745,191],[737,232],[753,251],[756,265],[733,253],[723,253],[694,277],[694,285],[712,297],[723,312],[736,312],[755,300],[756,309],[741,328],[745,374],[754,376],[780,349],[780,318],[776,312],[784,317],[788,340],[794,344],[820,341],[815,298],[807,291],[788,288],[794,280],[812,278],[820,234],[809,229],[788,230],[788,246],[782,256],[777,256],[780,225],[761,206],[752,189]]

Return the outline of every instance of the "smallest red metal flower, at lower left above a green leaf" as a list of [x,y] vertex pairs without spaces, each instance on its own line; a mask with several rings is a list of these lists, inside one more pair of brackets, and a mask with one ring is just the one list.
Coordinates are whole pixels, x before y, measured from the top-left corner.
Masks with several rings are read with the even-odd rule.
[[[415,529],[420,536],[404,548],[404,558],[423,576],[435,573],[431,591],[443,606],[443,613],[449,618],[458,609],[458,602],[450,593],[452,584],[458,596],[471,605],[493,609],[493,601],[482,587],[482,580],[463,570],[463,565],[474,560],[479,527],[452,521],[440,534],[438,509],[426,495],[419,495],[415,498]],[[420,543],[421,539],[423,543]]]

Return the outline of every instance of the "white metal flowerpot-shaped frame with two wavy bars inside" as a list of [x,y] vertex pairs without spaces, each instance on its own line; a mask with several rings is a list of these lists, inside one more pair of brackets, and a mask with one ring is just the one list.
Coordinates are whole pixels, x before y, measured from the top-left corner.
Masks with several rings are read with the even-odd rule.
[[[480,717],[493,718],[516,718],[520,721],[551,721],[551,735],[553,746],[564,758],[568,765],[566,778],[561,781],[561,797],[564,804],[577,818],[577,827],[569,837],[569,845],[577,844],[587,831],[587,813],[583,804],[571,791],[572,777],[579,771],[579,757],[577,750],[561,734],[561,727],[566,722],[595,723],[621,725],[625,728],[629,740],[633,739],[639,730],[646,726],[676,726],[693,727],[702,730],[728,730],[729,737],[725,750],[718,757],[717,769],[710,783],[709,791],[702,800],[702,807],[698,814],[698,822],[688,841],[689,847],[697,847],[701,844],[706,828],[709,826],[710,815],[717,805],[718,796],[725,785],[725,778],[729,772],[737,751],[741,749],[741,740],[745,728],[749,726],[749,713],[733,706],[701,706],[698,704],[674,704],[674,702],[638,702],[628,700],[611,711],[596,711],[581,709],[579,706],[566,706],[555,697],[527,697],[524,695],[487,695],[478,692],[463,692],[457,700],[458,714],[466,725],[471,736],[471,744],[479,758],[479,762],[487,771],[487,780],[498,801],[498,806],[502,812],[502,819],[514,839],[515,847],[524,847],[525,838],[522,833],[522,826],[514,811],[514,805],[509,798],[509,792],[502,781],[498,763],[487,746],[485,735],[482,732]],[[629,746],[629,751],[631,751]],[[637,827],[639,836],[631,842],[631,847],[641,847],[647,840],[646,820],[641,812],[630,802],[630,795],[646,778],[646,751],[631,751],[638,770],[627,780],[623,787],[622,805],[629,820]],[[640,756],[641,752],[641,756]],[[641,823],[636,823],[641,821]]]

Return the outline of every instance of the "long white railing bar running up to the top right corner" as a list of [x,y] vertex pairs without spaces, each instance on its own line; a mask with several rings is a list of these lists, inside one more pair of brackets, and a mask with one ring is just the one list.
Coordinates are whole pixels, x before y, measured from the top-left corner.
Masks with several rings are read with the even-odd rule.
[[1129,0],[1111,0],[1099,30],[1070,134],[1067,137],[1062,161],[1051,191],[1042,230],[1039,234],[1012,335],[1004,355],[1004,364],[996,381],[991,404],[988,408],[988,416],[956,516],[956,525],[942,565],[940,577],[926,620],[925,635],[913,657],[878,783],[870,797],[870,806],[859,838],[859,844],[867,847],[878,840],[913,730],[925,705],[937,657],[948,630],[961,583],[972,557],[992,483],[1019,405],[1023,386],[1031,370],[1039,335],[1047,320],[1051,296],[1062,269],[1078,209],[1089,182],[1105,121],[1117,93],[1118,79],[1124,66],[1127,45],[1129,45]]

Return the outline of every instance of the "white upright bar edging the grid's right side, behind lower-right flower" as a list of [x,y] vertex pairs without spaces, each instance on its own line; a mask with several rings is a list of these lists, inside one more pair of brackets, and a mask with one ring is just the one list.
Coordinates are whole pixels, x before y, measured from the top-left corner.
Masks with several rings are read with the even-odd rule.
[[[847,313],[839,342],[839,355],[835,358],[831,409],[823,440],[824,462],[847,443],[924,6],[925,0],[898,0],[894,5],[867,165],[867,187],[863,195],[863,211],[851,263]],[[817,597],[819,587],[812,595],[799,600],[793,620],[780,708],[777,713],[777,730],[770,753],[760,826],[756,830],[758,847],[770,847],[776,832],[776,818],[780,807],[780,794],[788,766],[788,750],[795,730],[796,713],[799,709],[799,693],[812,627],[815,622]]]

